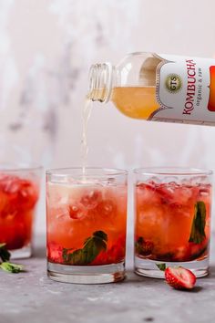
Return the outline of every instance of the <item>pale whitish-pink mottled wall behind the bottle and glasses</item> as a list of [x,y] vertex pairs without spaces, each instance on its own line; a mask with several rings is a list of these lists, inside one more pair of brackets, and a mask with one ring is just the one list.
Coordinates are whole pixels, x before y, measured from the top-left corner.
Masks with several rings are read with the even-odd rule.
[[[132,51],[215,57],[214,12],[213,0],[0,0],[0,161],[79,165],[89,66]],[[96,104],[88,164],[215,170],[214,141],[214,128],[130,120]]]

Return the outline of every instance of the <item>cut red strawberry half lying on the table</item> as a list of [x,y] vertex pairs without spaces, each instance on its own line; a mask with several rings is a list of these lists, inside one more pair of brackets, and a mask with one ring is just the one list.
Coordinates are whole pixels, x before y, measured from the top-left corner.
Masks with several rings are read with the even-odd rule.
[[175,289],[192,289],[196,283],[196,276],[184,267],[168,267],[165,272],[165,279],[169,286]]

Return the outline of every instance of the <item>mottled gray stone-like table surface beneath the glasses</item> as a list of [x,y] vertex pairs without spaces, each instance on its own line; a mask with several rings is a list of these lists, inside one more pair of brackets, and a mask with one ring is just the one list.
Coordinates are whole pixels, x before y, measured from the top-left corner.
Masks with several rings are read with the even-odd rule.
[[35,256],[20,261],[26,273],[0,272],[0,323],[215,322],[213,250],[210,276],[198,279],[196,289],[186,292],[160,279],[136,276],[131,250],[123,282],[97,286],[54,282],[46,276],[44,244],[45,237],[37,237]]

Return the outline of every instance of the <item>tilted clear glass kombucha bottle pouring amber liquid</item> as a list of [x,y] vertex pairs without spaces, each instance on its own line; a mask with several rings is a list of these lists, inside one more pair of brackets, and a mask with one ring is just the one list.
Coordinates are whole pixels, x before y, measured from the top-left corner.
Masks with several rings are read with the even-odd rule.
[[87,98],[135,119],[215,125],[215,59],[138,52],[95,64]]

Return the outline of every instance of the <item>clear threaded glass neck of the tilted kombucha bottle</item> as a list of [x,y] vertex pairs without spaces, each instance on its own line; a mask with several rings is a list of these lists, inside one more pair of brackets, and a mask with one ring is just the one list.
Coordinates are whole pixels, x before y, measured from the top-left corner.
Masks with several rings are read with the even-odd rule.
[[114,67],[110,63],[92,65],[89,70],[87,99],[106,103],[113,86]]

